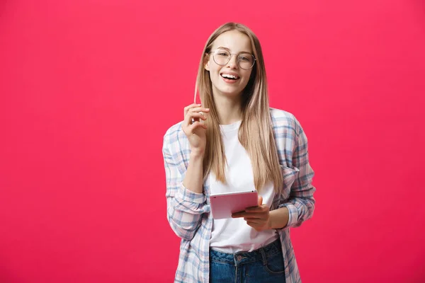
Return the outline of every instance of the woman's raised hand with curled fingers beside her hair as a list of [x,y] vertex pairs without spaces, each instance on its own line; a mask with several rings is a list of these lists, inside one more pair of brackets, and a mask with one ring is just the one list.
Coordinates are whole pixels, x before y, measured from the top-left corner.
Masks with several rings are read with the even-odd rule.
[[200,112],[210,112],[209,108],[203,108],[200,104],[191,104],[184,108],[184,120],[181,127],[191,144],[191,151],[203,155],[207,144],[207,126],[201,120],[207,117]]

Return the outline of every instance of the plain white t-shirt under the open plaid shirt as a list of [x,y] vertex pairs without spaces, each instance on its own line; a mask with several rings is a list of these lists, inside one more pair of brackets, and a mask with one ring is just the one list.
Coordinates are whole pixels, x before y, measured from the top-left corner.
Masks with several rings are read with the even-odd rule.
[[[217,181],[215,174],[211,172],[209,176],[211,194],[255,189],[251,159],[238,138],[241,122],[220,125],[228,164],[225,171],[227,184]],[[263,204],[271,207],[274,197],[273,183],[270,182],[262,187],[259,195],[263,197]],[[278,233],[276,233],[276,230],[257,232],[246,224],[243,217],[237,219],[214,219],[210,247],[222,253],[250,252],[267,246],[277,238]]]

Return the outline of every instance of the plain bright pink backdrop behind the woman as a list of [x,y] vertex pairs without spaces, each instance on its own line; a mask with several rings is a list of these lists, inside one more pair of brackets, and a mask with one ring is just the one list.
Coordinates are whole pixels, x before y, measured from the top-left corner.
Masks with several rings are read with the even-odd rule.
[[424,2],[263,2],[0,1],[0,282],[172,282],[162,137],[226,21],[310,141],[303,282],[424,282]]

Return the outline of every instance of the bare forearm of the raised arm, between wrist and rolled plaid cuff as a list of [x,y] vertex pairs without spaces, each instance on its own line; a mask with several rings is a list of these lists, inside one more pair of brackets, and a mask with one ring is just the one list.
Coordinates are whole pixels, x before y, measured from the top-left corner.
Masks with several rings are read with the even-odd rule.
[[203,193],[203,154],[191,152],[183,185],[192,192]]

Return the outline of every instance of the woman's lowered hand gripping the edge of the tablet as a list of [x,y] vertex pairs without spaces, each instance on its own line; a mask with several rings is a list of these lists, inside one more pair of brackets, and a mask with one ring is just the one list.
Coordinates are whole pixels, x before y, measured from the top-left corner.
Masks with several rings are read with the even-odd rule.
[[232,218],[244,217],[246,224],[256,231],[264,231],[270,228],[270,207],[263,204],[263,197],[259,196],[259,206],[245,209],[244,212],[232,214]]

